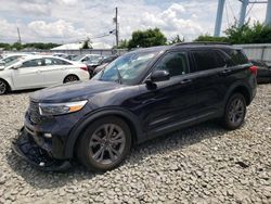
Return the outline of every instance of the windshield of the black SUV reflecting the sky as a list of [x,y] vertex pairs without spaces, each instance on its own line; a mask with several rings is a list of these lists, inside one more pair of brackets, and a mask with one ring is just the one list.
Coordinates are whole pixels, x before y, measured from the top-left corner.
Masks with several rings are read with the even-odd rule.
[[94,80],[133,84],[145,71],[157,52],[136,52],[125,54],[113,61],[106,68],[93,77]]

